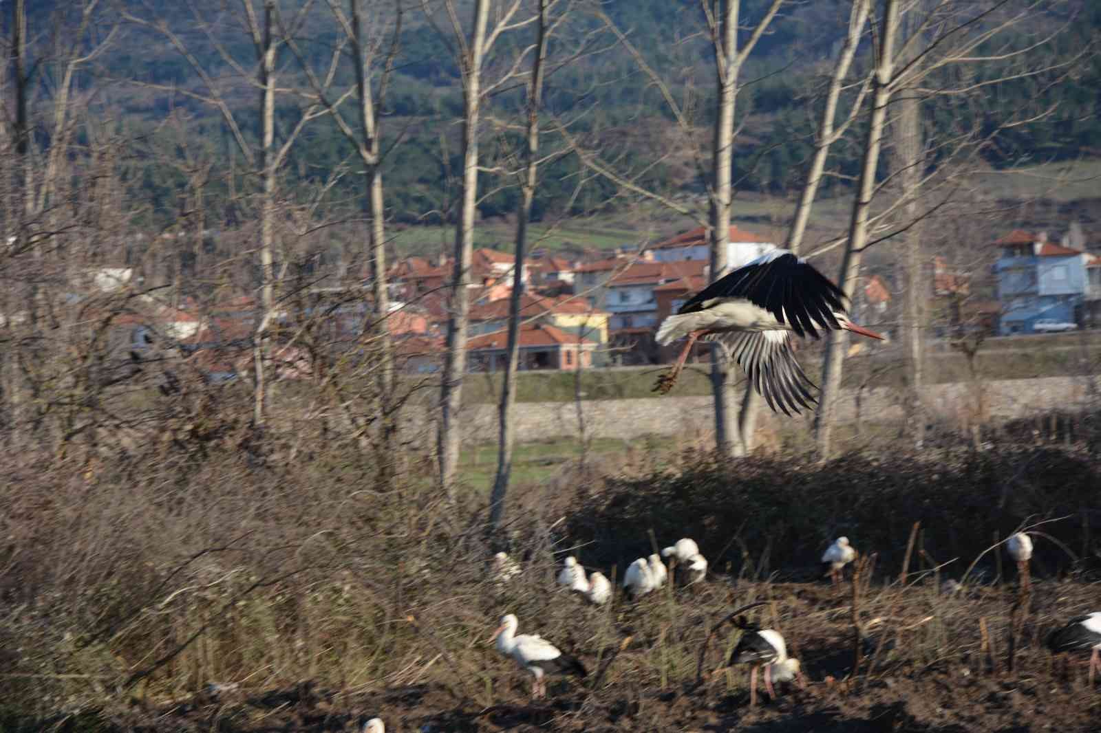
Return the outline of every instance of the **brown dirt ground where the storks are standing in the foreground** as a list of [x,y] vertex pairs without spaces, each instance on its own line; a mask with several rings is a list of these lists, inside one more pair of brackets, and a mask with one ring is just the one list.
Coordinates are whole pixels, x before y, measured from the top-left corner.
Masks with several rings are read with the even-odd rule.
[[[599,669],[598,652],[586,648],[584,632],[556,626],[552,638],[564,639],[562,646],[585,660],[590,676],[552,681],[541,702],[528,698],[527,675],[487,647],[477,655],[487,679],[493,680],[492,689],[447,672],[424,685],[373,691],[337,692],[306,680],[283,690],[200,692],[172,703],[134,700],[128,711],[97,715],[95,723],[56,719],[47,727],[91,730],[110,721],[110,729],[128,731],[353,731],[379,715],[388,731],[418,733],[1101,730],[1101,680],[1093,690],[1087,688],[1088,655],[1053,658],[1043,648],[1044,635],[1060,620],[1099,604],[1101,588],[1035,582],[1029,613],[1020,616],[1010,671],[1015,593],[1010,586],[981,586],[946,594],[933,582],[865,591],[859,601],[862,659],[855,675],[851,584],[833,590],[821,582],[734,587],[719,580],[702,592],[679,589],[665,599],[654,594],[634,605],[623,603],[612,616],[614,628],[631,641],[596,675],[591,671]],[[738,632],[715,636],[701,683],[695,680],[695,660],[707,636],[704,627],[721,617],[707,612],[735,598],[740,604],[754,597],[768,601],[757,609],[757,619],[783,628],[792,655],[803,660],[808,685],[805,690],[777,687],[775,700],[762,689],[759,705],[751,708],[748,670],[715,669],[722,664],[722,647],[732,644]],[[567,595],[564,602],[575,600]],[[655,637],[652,623],[668,609],[683,623],[658,623]],[[600,612],[579,603],[566,609],[577,626]],[[662,667],[667,677],[652,666],[655,655],[666,653],[663,644],[680,653],[679,661]]]

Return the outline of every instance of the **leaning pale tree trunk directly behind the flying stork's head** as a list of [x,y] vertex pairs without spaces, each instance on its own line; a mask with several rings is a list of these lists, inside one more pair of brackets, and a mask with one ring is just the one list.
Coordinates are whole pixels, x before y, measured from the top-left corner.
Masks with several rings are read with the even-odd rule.
[[[894,43],[898,31],[900,0],[884,0],[883,20],[880,32],[880,47],[875,59],[875,72],[872,79],[873,99],[872,113],[868,122],[868,136],[864,141],[864,155],[860,166],[860,180],[857,186],[857,198],[852,204],[852,215],[849,220],[849,241],[841,261],[841,272],[838,277],[841,288],[852,299],[857,289],[857,277],[860,274],[860,262],[868,243],[868,218],[872,194],[875,188],[875,171],[880,162],[880,149],[883,143],[883,130],[886,124],[887,105],[891,101],[894,76]],[[832,330],[829,332],[826,360],[822,368],[822,385],[818,413],[815,415],[815,438],[818,452],[822,458],[830,455],[833,422],[836,419],[837,395],[841,389],[844,352],[849,343],[849,332]]]

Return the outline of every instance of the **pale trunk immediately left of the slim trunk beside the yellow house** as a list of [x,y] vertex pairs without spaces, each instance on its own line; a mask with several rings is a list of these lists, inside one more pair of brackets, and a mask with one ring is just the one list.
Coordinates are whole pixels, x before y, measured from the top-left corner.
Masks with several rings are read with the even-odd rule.
[[462,204],[455,231],[455,267],[450,283],[450,317],[447,320],[447,352],[440,385],[439,481],[450,497],[459,464],[462,436],[459,409],[462,378],[467,368],[467,326],[470,300],[470,260],[473,253],[475,207],[478,201],[478,121],[481,109],[481,67],[490,0],[475,1],[473,33],[469,48],[460,57],[462,70]]

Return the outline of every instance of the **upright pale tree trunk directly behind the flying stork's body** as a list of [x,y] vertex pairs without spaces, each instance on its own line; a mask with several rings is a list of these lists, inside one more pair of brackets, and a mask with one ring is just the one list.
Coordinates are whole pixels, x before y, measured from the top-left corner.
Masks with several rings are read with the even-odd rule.
[[[738,11],[741,0],[715,3],[718,36],[713,39],[718,109],[715,142],[711,151],[710,207],[710,277],[718,280],[729,265],[727,243],[730,241],[731,177],[734,153],[734,101],[738,96]],[[734,380],[730,351],[719,342],[711,343],[711,393],[715,395],[716,449],[727,456],[743,456],[745,448],[738,436],[734,412]]]

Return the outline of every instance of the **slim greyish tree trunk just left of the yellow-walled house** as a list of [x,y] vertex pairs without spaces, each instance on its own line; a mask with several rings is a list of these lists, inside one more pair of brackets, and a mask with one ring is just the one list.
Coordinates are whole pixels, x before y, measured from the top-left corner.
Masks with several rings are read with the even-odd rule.
[[[504,383],[501,386],[501,402],[498,406],[498,448],[497,477],[493,479],[493,490],[490,493],[490,529],[497,529],[504,516],[504,499],[509,491],[509,478],[512,472],[512,446],[515,441],[515,426],[512,424],[512,407],[516,401],[516,361],[520,352],[520,299],[524,287],[524,259],[527,250],[527,222],[532,215],[532,200],[535,198],[535,184],[538,174],[539,150],[539,106],[543,101],[543,65],[547,44],[547,6],[548,0],[539,0],[539,20],[535,56],[532,61],[532,76],[527,85],[527,138],[524,150],[524,180],[521,184],[520,204],[516,207],[516,262],[512,273],[512,294],[509,297],[509,342],[505,347],[508,363],[504,369]],[[580,337],[578,337],[580,343]],[[577,368],[580,369],[580,347],[577,353]]]

